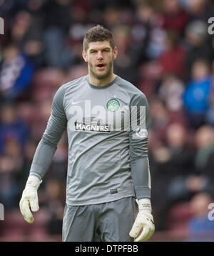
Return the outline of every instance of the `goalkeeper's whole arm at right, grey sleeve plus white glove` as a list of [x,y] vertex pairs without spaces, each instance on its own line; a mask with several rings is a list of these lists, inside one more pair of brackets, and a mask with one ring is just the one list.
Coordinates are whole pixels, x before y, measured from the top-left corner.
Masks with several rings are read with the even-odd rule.
[[[131,101],[130,152],[133,186],[138,203],[138,215],[130,235],[136,242],[148,240],[155,230],[151,215],[151,174],[148,162],[149,107],[145,95]],[[141,235],[138,236],[142,230]]]

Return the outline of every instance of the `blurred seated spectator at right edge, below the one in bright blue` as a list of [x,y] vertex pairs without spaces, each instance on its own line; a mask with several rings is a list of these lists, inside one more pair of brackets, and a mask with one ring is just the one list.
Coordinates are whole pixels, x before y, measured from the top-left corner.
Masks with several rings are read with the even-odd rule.
[[[211,195],[213,189],[213,173],[210,171],[212,164],[211,156],[214,153],[214,133],[213,128],[203,126],[198,129],[195,134],[196,152],[192,154],[191,149],[186,153],[191,154],[191,159],[186,159],[188,166],[183,165],[181,169],[183,175],[173,177],[169,183],[168,198],[170,204],[178,201],[188,201],[195,193],[209,192]],[[183,155],[185,157],[185,154]],[[180,163],[185,164],[185,161],[180,160]],[[178,167],[179,164],[176,164]],[[211,165],[213,166],[213,165]],[[170,168],[171,170],[171,168]]]

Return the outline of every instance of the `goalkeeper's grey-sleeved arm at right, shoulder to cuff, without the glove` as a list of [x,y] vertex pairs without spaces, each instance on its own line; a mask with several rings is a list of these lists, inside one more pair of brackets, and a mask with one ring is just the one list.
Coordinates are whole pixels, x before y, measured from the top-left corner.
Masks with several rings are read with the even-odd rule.
[[151,177],[148,163],[149,107],[144,94],[131,101],[130,152],[131,172],[136,198],[151,198]]

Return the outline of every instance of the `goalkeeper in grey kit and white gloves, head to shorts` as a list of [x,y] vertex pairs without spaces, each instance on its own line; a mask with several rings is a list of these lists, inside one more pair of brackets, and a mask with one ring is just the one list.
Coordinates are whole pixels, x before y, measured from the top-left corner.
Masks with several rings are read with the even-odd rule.
[[148,102],[133,84],[113,73],[117,54],[110,31],[100,25],[87,31],[82,55],[88,75],[56,92],[19,203],[24,219],[34,222],[37,189],[67,129],[63,241],[138,242],[148,240],[155,230]]

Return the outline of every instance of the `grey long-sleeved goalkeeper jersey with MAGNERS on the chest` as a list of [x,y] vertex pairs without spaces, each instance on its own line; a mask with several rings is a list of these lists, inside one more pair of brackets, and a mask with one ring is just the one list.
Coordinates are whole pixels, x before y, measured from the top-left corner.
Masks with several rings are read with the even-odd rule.
[[145,95],[121,77],[104,86],[90,84],[88,76],[63,84],[30,174],[44,177],[66,130],[68,205],[150,198],[148,119]]

